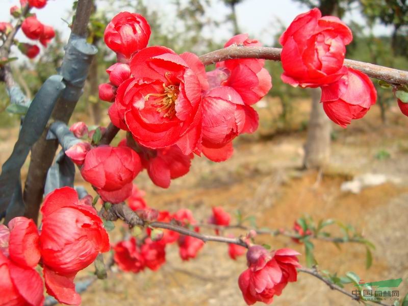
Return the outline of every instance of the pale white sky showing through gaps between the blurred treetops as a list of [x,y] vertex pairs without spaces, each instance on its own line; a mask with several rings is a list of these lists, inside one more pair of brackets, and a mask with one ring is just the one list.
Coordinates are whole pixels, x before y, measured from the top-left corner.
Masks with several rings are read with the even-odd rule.
[[[42,23],[53,25],[54,28],[61,31],[63,39],[66,40],[70,31],[63,19],[70,20],[69,12],[71,11],[73,1],[48,0],[45,8],[33,9],[33,12],[37,14],[37,18]],[[211,14],[212,18],[222,20],[228,13],[227,8],[219,0],[211,0],[211,2],[212,7],[209,14]],[[171,0],[148,0],[148,3],[152,8],[160,8],[162,14],[166,15],[166,17],[174,16],[172,14],[174,7],[171,4]],[[10,21],[9,8],[18,4],[18,0],[0,0],[0,21]],[[103,9],[104,6],[98,5],[98,8]],[[237,19],[241,32],[248,33],[251,37],[257,38],[265,45],[272,45],[274,36],[281,29],[281,24],[289,25],[298,14],[305,11],[308,11],[307,7],[292,0],[246,0],[237,6]],[[350,20],[365,24],[365,20],[356,6],[352,8],[351,13],[344,17],[346,23],[350,22]],[[217,29],[217,31],[205,34],[214,37],[218,41],[225,41],[231,37],[230,30],[231,28],[222,27],[219,31]],[[374,33],[376,34],[382,35],[390,32],[390,28],[382,25],[377,25],[374,28]],[[17,39],[30,42],[22,33],[17,35]]]

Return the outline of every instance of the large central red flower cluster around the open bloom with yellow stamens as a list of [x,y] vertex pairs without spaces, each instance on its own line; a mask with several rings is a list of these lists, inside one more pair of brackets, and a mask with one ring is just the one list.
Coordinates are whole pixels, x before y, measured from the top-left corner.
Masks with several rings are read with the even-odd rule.
[[[167,188],[189,171],[193,154],[215,162],[230,158],[233,139],[257,129],[252,105],[272,83],[264,60],[228,60],[206,73],[195,54],[147,47],[149,37],[139,14],[112,19],[104,38],[118,61],[106,70],[109,83],[99,85],[99,98],[112,103],[112,123],[130,135],[120,146],[135,150],[152,182]],[[231,44],[260,45],[246,34],[225,46]]]

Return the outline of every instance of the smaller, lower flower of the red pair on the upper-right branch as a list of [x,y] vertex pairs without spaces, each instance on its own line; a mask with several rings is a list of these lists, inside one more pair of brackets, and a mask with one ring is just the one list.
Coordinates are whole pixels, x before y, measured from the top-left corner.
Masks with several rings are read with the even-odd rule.
[[346,74],[328,86],[322,87],[321,101],[327,116],[342,127],[351,119],[362,118],[375,104],[377,92],[366,74],[345,68]]

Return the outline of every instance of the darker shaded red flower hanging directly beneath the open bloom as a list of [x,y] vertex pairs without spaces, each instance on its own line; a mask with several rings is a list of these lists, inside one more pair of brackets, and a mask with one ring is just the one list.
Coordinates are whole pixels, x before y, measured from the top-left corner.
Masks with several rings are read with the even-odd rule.
[[194,157],[192,154],[184,155],[175,145],[154,150],[152,155],[141,154],[142,164],[147,169],[150,180],[162,188],[168,188],[170,180],[187,174]]

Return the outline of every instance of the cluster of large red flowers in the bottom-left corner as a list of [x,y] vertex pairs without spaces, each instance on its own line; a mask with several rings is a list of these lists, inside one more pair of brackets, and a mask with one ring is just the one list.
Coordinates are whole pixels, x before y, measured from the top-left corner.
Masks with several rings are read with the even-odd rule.
[[2,305],[42,305],[46,291],[59,302],[79,305],[73,279],[98,253],[110,249],[108,234],[96,211],[64,187],[49,193],[41,208],[41,232],[31,219],[16,217],[0,225]]

